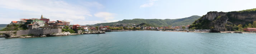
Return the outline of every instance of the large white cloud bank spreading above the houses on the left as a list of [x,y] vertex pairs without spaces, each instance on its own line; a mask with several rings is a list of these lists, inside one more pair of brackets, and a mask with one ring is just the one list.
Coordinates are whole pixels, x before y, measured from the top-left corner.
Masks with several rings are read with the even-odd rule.
[[[84,5],[86,4],[90,4],[87,6],[91,7],[103,7],[98,2],[85,2]],[[84,5],[69,4],[61,0],[0,0],[0,8],[14,11],[19,10],[19,15],[23,15],[19,18],[39,18],[43,14],[44,17],[50,18],[51,21],[65,20],[71,21],[71,23],[76,23],[74,20],[85,20],[87,19],[86,17],[92,17],[89,9],[86,6],[84,7]],[[8,14],[5,16],[14,16],[12,13]]]

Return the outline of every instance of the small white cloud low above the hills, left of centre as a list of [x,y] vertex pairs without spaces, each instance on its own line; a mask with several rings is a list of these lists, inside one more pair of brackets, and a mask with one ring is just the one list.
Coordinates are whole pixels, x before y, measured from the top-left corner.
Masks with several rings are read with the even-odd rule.
[[114,15],[115,15],[114,13],[109,13],[109,12],[99,12],[94,14],[95,17],[104,18],[104,21],[106,22],[116,22],[117,20],[111,21],[115,18]]

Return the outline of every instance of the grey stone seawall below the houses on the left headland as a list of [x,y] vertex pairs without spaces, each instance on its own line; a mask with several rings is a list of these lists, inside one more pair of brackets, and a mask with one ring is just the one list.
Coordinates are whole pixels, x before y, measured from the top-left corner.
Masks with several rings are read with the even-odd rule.
[[27,35],[27,34],[34,34],[35,36],[41,35],[49,35],[54,33],[61,33],[60,28],[56,29],[27,29],[23,31],[17,31],[17,36]]

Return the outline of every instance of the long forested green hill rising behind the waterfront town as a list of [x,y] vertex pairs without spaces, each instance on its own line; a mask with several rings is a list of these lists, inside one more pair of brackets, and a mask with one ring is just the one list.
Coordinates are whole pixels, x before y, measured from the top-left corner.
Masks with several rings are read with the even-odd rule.
[[181,25],[191,25],[192,22],[200,18],[201,16],[190,16],[186,18],[179,19],[132,19],[132,20],[122,20],[118,22],[110,22],[110,23],[97,23],[95,25],[87,25],[87,26],[136,26],[141,23],[147,23],[152,26],[181,26]]

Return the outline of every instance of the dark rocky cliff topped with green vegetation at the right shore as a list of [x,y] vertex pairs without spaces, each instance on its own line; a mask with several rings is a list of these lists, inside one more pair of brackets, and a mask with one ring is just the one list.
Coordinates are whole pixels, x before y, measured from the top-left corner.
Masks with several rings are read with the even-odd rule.
[[256,9],[232,12],[208,12],[196,20],[190,28],[210,29],[210,32],[227,31],[227,22],[232,25],[246,25],[256,21]]

